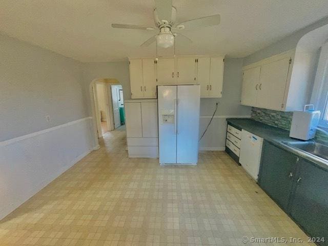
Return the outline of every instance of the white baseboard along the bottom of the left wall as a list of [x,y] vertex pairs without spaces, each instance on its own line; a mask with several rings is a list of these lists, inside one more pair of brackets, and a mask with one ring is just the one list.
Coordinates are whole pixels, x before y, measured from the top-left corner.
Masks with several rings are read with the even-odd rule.
[[68,169],[70,169],[71,167],[73,167],[78,161],[80,161],[81,159],[83,159],[84,157],[86,157],[88,154],[91,153],[91,150],[86,151],[85,153],[77,156],[76,158],[74,158],[69,165],[61,168],[58,170],[57,173],[54,173],[51,177],[49,177],[48,179],[43,180],[42,182],[39,183],[39,185],[37,185],[35,188],[33,188],[32,190],[26,192],[26,194],[33,194],[27,198],[25,198],[23,201],[22,200],[17,200],[16,202],[13,202],[11,204],[11,206],[7,206],[6,208],[2,209],[0,211],[0,220],[2,220],[3,218],[5,218],[7,215],[9,215],[10,213],[12,213],[15,209],[17,209],[19,206],[21,206],[23,203],[25,203],[26,201],[28,201],[32,196],[34,196],[36,193],[38,193],[39,191],[41,191],[43,188],[45,188],[47,185],[49,185],[49,183],[51,183],[53,180],[55,180],[57,177],[59,177],[61,174],[63,174],[64,172],[66,172]]

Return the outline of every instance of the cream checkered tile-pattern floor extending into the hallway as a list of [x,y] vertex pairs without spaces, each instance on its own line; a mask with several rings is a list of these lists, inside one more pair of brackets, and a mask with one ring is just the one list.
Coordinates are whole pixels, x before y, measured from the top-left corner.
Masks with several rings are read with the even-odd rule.
[[[0,245],[308,245],[226,153],[161,167],[128,158],[124,129],[3,219]],[[304,243],[244,244],[243,236]]]

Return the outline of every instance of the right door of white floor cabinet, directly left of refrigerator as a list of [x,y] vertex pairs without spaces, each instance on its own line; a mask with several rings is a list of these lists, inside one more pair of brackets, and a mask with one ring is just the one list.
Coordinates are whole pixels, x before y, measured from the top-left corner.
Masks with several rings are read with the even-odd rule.
[[157,103],[141,103],[142,137],[158,137]]

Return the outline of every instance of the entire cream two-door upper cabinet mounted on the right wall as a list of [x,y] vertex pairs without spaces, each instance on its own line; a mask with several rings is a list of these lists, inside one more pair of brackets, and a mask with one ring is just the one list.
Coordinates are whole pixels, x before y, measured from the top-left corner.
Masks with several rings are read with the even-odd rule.
[[309,103],[317,53],[290,50],[243,67],[241,104],[279,111]]

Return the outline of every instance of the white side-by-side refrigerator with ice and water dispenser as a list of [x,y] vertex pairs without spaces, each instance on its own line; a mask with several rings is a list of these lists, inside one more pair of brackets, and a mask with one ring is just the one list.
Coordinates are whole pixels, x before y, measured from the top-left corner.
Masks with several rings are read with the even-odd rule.
[[159,163],[196,165],[200,86],[158,86]]

